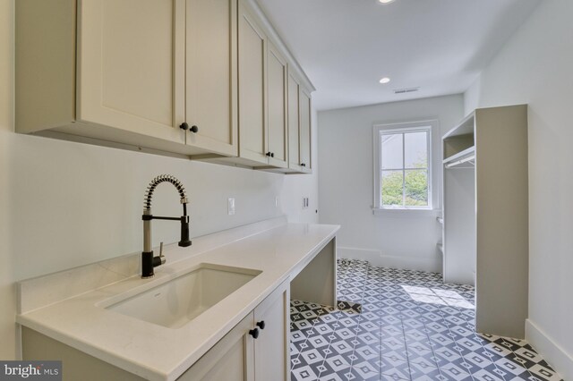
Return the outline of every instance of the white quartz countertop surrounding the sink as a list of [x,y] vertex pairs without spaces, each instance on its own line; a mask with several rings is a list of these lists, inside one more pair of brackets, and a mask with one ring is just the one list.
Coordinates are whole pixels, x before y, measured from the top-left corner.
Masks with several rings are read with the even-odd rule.
[[[279,284],[297,275],[332,240],[338,228],[281,224],[260,233],[238,228],[195,239],[189,248],[168,245],[164,249],[167,263],[155,268],[153,278],[133,275],[21,313],[17,322],[140,377],[175,380]],[[201,263],[246,267],[261,274],[176,329],[98,307],[150,290]],[[33,292],[30,285],[27,287],[28,293]]]

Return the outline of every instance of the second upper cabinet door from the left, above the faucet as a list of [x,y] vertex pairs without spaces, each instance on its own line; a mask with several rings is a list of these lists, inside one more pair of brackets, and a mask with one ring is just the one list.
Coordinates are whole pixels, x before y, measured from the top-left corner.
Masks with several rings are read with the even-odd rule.
[[187,144],[237,156],[236,0],[186,0]]

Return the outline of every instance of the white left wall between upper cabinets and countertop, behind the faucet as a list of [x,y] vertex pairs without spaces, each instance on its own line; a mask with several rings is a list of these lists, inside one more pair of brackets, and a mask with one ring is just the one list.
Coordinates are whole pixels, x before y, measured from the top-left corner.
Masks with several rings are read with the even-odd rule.
[[[143,194],[158,174],[184,183],[192,237],[284,213],[293,222],[318,220],[298,202],[316,203],[316,174],[287,177],[14,133],[13,7],[0,1],[0,359],[18,356],[14,282],[141,251]],[[228,197],[235,216],[227,216]],[[180,216],[178,199],[162,184],[153,211]],[[154,221],[155,245],[178,235],[177,223]]]

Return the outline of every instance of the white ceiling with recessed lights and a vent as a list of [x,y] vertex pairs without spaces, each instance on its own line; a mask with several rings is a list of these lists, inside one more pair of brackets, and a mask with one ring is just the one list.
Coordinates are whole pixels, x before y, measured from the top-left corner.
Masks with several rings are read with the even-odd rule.
[[[464,92],[541,2],[257,1],[316,88],[318,110]],[[394,93],[410,88],[419,89]]]

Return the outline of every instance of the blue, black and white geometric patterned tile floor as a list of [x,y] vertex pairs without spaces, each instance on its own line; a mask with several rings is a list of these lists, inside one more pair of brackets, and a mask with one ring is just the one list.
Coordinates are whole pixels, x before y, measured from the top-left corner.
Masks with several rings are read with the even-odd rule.
[[291,301],[293,381],[560,380],[525,341],[476,334],[474,288],[439,274],[338,260],[338,299]]

